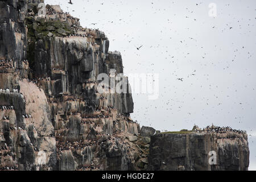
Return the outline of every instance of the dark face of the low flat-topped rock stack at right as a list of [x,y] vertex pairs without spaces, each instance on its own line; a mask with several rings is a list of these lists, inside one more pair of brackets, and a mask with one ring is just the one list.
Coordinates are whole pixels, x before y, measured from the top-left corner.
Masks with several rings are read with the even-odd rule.
[[150,170],[247,170],[247,135],[232,131],[154,135],[148,163]]

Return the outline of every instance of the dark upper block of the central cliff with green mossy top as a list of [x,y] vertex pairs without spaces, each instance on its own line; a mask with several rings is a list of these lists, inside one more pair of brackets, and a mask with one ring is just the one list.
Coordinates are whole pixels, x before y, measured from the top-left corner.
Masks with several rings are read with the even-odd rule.
[[[29,11],[35,8],[30,6]],[[79,19],[64,13],[59,6],[46,8],[45,19],[29,12],[27,27],[30,65],[34,77],[43,78],[40,84],[47,96],[60,97],[61,93],[80,97],[89,103],[87,109],[91,112],[102,104],[114,106],[119,113],[133,113],[130,93],[106,94],[106,100],[100,103],[98,75],[109,75],[110,69],[123,73],[122,57],[119,52],[108,51],[105,34],[82,28]]]

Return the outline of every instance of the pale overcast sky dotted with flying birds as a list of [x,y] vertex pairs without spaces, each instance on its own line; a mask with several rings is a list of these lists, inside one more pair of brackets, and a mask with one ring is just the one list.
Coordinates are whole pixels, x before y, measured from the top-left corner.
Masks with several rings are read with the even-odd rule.
[[[131,116],[141,126],[246,130],[250,169],[256,169],[255,0],[45,2],[104,31],[109,50],[121,52],[125,73],[159,73],[157,100],[133,94]],[[209,16],[210,3],[216,17]]]

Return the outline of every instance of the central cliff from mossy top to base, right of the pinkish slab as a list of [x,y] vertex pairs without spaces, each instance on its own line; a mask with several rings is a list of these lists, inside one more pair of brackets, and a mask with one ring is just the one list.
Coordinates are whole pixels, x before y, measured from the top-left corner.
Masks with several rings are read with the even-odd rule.
[[57,169],[134,169],[133,155],[127,157],[127,146],[134,144],[113,140],[117,135],[125,140],[125,133],[139,133],[139,125],[129,118],[131,94],[99,94],[97,90],[100,73],[108,74],[112,65],[123,72],[121,55],[108,52],[103,32],[83,29],[78,19],[64,14],[59,6],[47,5],[51,13],[46,20],[34,18],[33,9],[26,22],[28,57],[32,77],[41,78],[38,85],[49,102]]

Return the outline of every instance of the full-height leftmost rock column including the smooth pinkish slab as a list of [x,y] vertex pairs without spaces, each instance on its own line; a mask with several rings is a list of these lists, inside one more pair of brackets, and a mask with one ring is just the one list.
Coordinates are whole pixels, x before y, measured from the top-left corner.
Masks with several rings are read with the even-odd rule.
[[55,169],[56,140],[43,92],[28,82],[27,1],[0,1],[0,168]]

